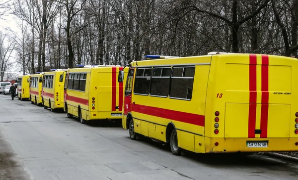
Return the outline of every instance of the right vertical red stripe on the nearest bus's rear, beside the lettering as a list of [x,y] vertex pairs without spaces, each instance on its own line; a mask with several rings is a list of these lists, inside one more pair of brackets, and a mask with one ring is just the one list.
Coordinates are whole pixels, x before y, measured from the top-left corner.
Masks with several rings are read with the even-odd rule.
[[268,106],[269,106],[269,57],[262,55],[262,105],[261,105],[261,136],[267,138],[268,131]]

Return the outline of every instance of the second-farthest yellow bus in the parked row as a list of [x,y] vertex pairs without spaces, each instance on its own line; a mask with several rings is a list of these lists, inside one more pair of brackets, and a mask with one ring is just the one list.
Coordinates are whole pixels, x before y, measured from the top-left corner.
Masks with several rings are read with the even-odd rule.
[[42,104],[42,76],[43,73],[36,72],[30,76],[30,100],[32,104]]

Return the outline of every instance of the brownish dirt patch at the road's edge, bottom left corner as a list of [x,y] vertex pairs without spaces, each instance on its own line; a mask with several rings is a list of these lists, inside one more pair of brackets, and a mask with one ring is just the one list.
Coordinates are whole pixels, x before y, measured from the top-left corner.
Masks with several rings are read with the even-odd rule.
[[30,180],[15,158],[10,144],[0,134],[0,180]]

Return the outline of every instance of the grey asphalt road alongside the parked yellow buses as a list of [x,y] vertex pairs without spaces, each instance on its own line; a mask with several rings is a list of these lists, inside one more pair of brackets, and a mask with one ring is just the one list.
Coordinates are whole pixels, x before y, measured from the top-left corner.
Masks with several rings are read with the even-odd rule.
[[298,166],[262,155],[174,156],[113,123],[0,94],[0,180],[298,180]]

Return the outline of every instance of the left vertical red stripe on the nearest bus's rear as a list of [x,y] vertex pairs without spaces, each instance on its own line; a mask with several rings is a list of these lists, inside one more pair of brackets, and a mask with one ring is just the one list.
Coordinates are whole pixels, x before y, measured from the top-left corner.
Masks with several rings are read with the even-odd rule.
[[257,55],[249,55],[248,137],[255,137],[257,112]]

